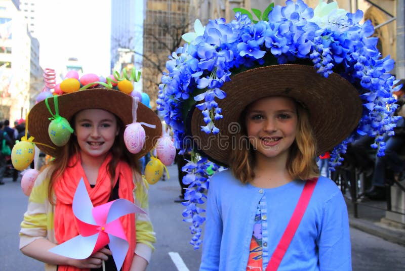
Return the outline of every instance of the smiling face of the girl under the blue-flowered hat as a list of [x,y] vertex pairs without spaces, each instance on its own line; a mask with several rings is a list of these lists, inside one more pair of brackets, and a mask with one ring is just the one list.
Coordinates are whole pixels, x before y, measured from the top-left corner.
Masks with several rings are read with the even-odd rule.
[[286,97],[267,97],[251,104],[246,114],[249,141],[257,158],[288,158],[297,132],[295,102]]

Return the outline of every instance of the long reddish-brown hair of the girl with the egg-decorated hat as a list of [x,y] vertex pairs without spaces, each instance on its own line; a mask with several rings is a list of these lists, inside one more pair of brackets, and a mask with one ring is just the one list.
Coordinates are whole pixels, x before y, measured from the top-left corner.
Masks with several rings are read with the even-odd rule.
[[[76,114],[73,115],[72,120],[69,121],[72,127],[74,127]],[[117,121],[118,135],[115,137],[114,144],[112,145],[110,150],[112,159],[107,165],[107,170],[111,177],[111,191],[113,189],[115,168],[120,160],[127,162],[134,171],[140,172],[137,163],[138,160],[135,154],[130,153],[124,143],[125,125],[117,116],[114,115],[114,117]],[[65,146],[63,146],[60,155],[50,162],[48,166],[50,167],[50,170],[48,171],[49,175],[47,176],[47,178],[49,178],[48,200],[52,204],[54,204],[52,191],[55,181],[63,174],[65,169],[68,167],[70,157],[72,157],[73,155],[79,155],[79,152],[80,147],[77,143],[76,136],[72,134],[69,142]]]

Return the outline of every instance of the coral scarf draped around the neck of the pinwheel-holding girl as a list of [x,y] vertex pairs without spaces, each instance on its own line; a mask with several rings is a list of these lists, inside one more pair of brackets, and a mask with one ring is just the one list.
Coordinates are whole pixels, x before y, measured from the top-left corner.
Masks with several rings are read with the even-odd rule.
[[[85,171],[82,167],[80,156],[72,157],[68,167],[63,172],[62,176],[55,182],[54,190],[56,195],[55,207],[55,238],[59,244],[77,236],[79,234],[77,221],[73,215],[72,202],[80,178],[83,177],[86,184],[87,192],[92,200],[93,206],[98,206],[108,202],[111,193],[111,178],[107,171],[107,165],[111,161],[109,154],[100,166],[97,176],[96,186],[90,187]],[[123,161],[119,161],[115,169],[115,179],[113,187],[119,178],[118,196],[122,199],[127,199],[134,202],[133,190],[133,172],[130,166]],[[129,214],[120,218],[123,223],[129,249],[125,258],[122,270],[127,271],[131,268],[132,259],[135,253],[136,231],[135,231],[135,215]],[[58,271],[76,271],[83,270],[73,266],[59,265]]]

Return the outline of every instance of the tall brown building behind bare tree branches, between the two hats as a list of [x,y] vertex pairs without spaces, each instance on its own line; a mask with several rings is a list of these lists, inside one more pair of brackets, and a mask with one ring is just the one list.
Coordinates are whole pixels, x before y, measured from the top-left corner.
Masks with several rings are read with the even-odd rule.
[[143,35],[143,91],[150,97],[150,106],[156,108],[160,77],[168,56],[183,40],[189,29],[190,0],[148,0]]

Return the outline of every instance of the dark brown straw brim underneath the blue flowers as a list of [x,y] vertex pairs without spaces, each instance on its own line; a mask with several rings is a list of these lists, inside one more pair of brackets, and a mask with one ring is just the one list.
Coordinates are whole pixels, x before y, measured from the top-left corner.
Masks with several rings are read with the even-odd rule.
[[214,135],[201,131],[201,126],[207,124],[198,109],[192,112],[186,126],[195,149],[225,166],[229,165],[231,149],[238,147],[230,139],[240,132],[241,112],[261,98],[284,96],[303,104],[309,112],[318,155],[346,139],[362,114],[361,99],[349,81],[336,73],[325,78],[313,66],[282,64],[255,68],[233,75],[221,89],[227,97],[217,101],[223,115],[215,121],[220,132]]

